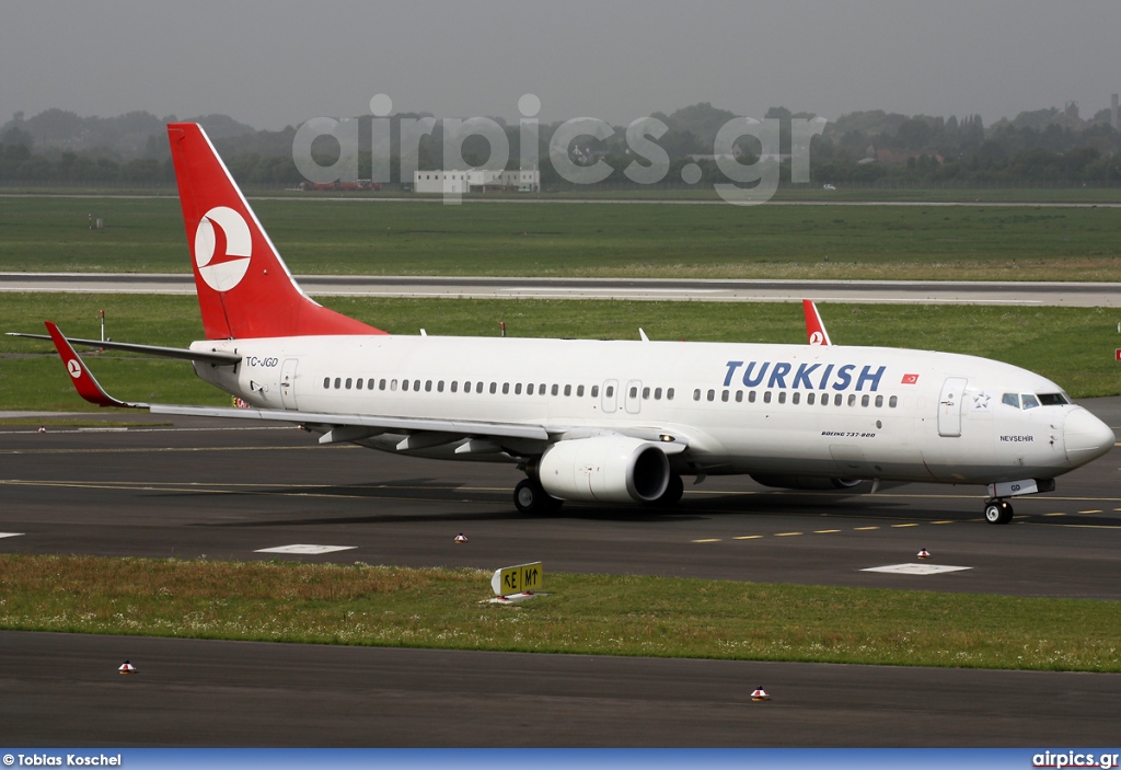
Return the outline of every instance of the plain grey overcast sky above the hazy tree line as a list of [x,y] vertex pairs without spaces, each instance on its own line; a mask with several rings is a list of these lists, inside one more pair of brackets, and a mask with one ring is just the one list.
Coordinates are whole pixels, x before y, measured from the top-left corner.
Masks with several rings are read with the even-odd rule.
[[985,123],[1121,91],[1118,0],[0,3],[0,123],[48,108],[279,129],[395,111],[628,123],[696,102]]

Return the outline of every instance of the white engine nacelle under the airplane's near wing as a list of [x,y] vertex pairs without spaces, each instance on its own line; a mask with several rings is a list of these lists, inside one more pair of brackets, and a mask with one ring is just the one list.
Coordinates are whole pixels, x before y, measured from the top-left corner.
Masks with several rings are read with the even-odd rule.
[[641,438],[573,438],[545,451],[537,477],[562,500],[654,502],[669,485],[669,461],[657,444]]

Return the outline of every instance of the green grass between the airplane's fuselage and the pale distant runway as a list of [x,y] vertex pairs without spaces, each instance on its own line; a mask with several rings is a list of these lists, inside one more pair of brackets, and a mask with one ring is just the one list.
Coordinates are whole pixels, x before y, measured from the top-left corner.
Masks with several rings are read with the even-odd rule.
[[[383,299],[331,297],[330,307],[395,334],[493,336],[499,321],[526,337],[803,343],[802,308],[787,304]],[[189,296],[0,294],[0,332],[44,333],[43,321],[70,336],[100,334],[104,309],[115,340],[183,347],[202,337]],[[926,305],[823,305],[834,343],[944,350],[1007,361],[1048,377],[1075,398],[1121,393],[1121,312],[1104,308],[1010,308]],[[127,400],[225,405],[182,361],[91,353],[101,383]],[[74,392],[47,342],[0,336],[0,410],[96,409]]]

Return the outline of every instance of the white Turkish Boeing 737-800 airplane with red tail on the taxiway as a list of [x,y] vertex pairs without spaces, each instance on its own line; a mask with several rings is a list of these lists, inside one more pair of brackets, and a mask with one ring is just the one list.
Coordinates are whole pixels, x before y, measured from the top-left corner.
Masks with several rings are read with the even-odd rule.
[[[94,403],[516,463],[524,512],[565,500],[671,505],[682,476],[750,474],[794,489],[988,485],[985,519],[1007,523],[1009,498],[1050,491],[1114,445],[1050,380],[970,355],[830,345],[812,304],[809,345],[390,335],[308,298],[203,130],[172,123],[168,134],[206,340],[68,341],[47,322]],[[120,401],[72,342],[188,359],[249,408]]]

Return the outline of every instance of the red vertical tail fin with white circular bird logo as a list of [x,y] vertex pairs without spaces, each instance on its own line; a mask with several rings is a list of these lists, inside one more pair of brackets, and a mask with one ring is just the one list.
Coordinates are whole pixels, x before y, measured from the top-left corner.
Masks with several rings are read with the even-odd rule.
[[207,340],[385,334],[313,300],[197,123],[168,123]]

